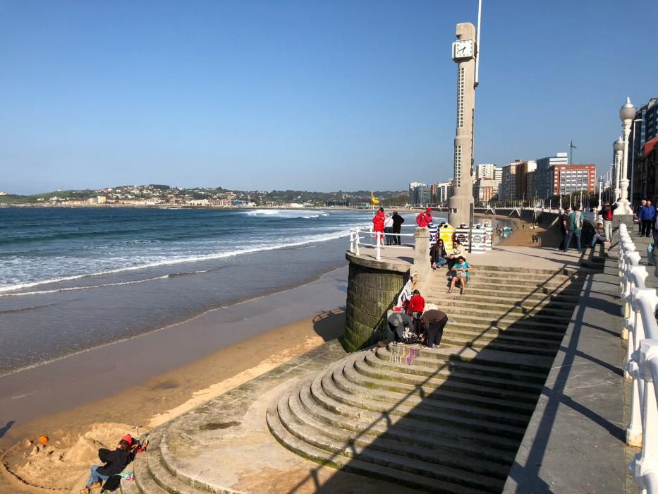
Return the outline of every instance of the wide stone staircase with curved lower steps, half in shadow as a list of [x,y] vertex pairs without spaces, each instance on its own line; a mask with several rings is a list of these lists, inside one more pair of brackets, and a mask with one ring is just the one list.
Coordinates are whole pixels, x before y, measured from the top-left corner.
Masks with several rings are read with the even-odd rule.
[[[425,298],[450,321],[441,348],[350,354],[269,402],[267,428],[319,464],[429,492],[500,493],[582,276],[476,267],[459,296],[445,293],[446,270],[433,272]],[[166,426],[154,434],[124,494],[233,492],[185,473],[169,436]]]

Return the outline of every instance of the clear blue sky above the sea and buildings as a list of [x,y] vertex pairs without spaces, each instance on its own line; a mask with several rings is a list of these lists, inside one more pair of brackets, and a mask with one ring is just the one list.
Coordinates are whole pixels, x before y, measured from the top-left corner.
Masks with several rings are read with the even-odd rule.
[[[0,0],[0,190],[314,191],[452,176],[477,1]],[[484,0],[475,162],[607,169],[658,96],[658,2]]]

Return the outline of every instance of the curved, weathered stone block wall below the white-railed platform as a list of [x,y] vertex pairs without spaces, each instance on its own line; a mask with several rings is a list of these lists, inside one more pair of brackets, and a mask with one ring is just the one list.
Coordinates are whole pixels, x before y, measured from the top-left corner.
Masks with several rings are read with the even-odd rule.
[[[349,351],[369,347],[384,339],[386,312],[392,308],[409,277],[409,271],[363,265],[350,259],[345,337]],[[388,266],[391,267],[391,266]]]

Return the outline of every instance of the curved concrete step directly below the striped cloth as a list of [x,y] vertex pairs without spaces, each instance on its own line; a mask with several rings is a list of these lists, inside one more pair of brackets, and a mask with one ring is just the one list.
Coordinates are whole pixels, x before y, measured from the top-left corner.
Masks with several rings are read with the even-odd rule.
[[509,378],[492,378],[488,375],[471,374],[464,370],[451,371],[447,368],[423,368],[418,365],[408,366],[406,363],[388,362],[377,358],[374,354],[367,355],[365,362],[371,366],[382,370],[395,371],[396,373],[415,375],[417,377],[424,377],[427,380],[436,382],[445,382],[447,380],[453,382],[466,382],[469,384],[486,385],[488,387],[496,387],[500,390],[520,391],[526,393],[538,392],[542,389],[542,384],[536,382],[524,382],[521,380]]

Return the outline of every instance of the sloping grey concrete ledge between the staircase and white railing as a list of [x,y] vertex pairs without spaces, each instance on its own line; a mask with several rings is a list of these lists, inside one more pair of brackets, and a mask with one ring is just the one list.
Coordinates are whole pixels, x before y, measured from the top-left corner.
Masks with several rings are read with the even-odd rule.
[[504,493],[623,491],[623,321],[614,264],[585,280]]

